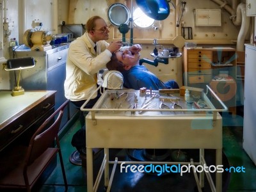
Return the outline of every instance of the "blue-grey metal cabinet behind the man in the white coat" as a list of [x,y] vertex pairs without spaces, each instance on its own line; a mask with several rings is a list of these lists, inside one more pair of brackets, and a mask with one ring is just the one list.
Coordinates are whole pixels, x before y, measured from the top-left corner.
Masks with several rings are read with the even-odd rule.
[[[26,90],[56,90],[55,108],[58,109],[65,100],[64,81],[66,77],[66,60],[68,45],[62,45],[47,51],[31,51],[28,47],[21,45],[15,51],[17,58],[31,56],[36,60],[36,66],[28,70],[22,70],[20,85]],[[11,74],[12,81],[15,79]],[[14,82],[11,82],[14,84]],[[12,85],[13,86],[13,85]],[[65,125],[77,109],[68,104],[63,114],[61,127]]]

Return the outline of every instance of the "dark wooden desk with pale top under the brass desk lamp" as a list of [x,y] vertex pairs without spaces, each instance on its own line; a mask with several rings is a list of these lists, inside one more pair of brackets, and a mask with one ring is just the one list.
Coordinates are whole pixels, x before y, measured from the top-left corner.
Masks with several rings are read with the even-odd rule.
[[0,151],[18,140],[26,143],[55,106],[55,91],[25,92],[17,97],[11,93],[0,92]]

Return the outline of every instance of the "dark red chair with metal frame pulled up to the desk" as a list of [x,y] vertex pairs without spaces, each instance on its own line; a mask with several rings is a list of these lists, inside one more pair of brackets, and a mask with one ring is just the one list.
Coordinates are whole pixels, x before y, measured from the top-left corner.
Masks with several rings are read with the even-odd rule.
[[[67,191],[67,178],[61,155],[58,131],[63,116],[63,110],[68,102],[69,100],[63,103],[60,108],[54,111],[54,113],[40,125],[35,134],[33,134],[28,146],[17,146],[14,150],[9,152],[9,155],[0,157],[0,191],[1,188],[23,188],[27,191],[31,191],[36,180],[40,178],[45,168],[55,159],[57,153],[60,157],[65,191]],[[53,145],[54,141],[56,141],[56,146]],[[4,169],[5,171],[3,171]]]

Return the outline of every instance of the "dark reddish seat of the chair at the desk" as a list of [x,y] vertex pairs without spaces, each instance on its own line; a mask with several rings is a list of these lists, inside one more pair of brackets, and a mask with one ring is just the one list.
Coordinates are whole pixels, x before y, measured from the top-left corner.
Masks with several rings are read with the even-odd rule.
[[[0,158],[1,175],[0,188],[26,188],[23,177],[24,156],[26,156],[28,147],[17,147]],[[35,180],[41,175],[44,168],[51,162],[51,159],[56,156],[58,148],[47,148],[45,152],[39,156],[28,167],[29,185],[34,184]],[[22,160],[22,161],[21,161]],[[40,173],[41,172],[41,173]]]

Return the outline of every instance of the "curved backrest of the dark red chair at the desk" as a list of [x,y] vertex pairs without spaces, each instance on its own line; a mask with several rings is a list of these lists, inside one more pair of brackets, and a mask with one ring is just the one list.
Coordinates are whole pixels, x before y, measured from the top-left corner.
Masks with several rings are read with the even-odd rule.
[[[37,157],[47,150],[47,148],[51,147],[54,140],[56,139],[58,148],[58,131],[60,129],[61,119],[63,116],[63,111],[67,106],[69,100],[64,102],[60,108],[56,109],[54,113],[52,113],[45,122],[40,125],[40,127],[36,130],[35,134],[33,134],[30,142],[29,142],[29,150],[26,154],[26,164],[29,165],[35,161]],[[58,117],[54,120],[54,117],[58,114]]]

